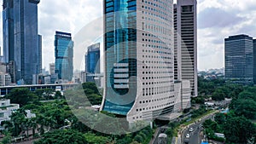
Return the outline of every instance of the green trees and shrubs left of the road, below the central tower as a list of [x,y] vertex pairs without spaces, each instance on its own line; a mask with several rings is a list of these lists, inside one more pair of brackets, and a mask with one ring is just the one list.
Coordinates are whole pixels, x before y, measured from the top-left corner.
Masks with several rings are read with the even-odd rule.
[[[99,94],[96,84],[86,83],[82,87],[84,87],[82,92],[79,90],[67,91],[67,95],[80,94],[79,98],[74,96],[74,98],[77,97],[78,101],[81,97],[88,98],[87,102],[80,101],[81,105],[78,107],[101,104],[102,96]],[[73,91],[76,93],[74,94]],[[148,144],[154,134],[154,130],[149,126],[127,135],[108,135],[92,130],[73,115],[70,107],[76,105],[69,106],[68,104],[72,103],[70,99],[66,101],[64,96],[51,89],[38,89],[34,92],[28,89],[13,89],[5,98],[9,98],[12,103],[20,104],[20,109],[12,114],[10,121],[2,123],[2,126],[5,128],[5,130],[1,131],[2,135],[4,135],[2,143],[10,143],[12,138],[23,136],[25,140],[31,138],[39,139],[35,142],[36,144],[66,144],[73,143],[74,141],[78,144]],[[27,119],[25,110],[32,110],[36,114],[36,118]],[[87,116],[95,113],[95,111],[85,112]],[[117,117],[108,112],[103,113],[111,117]],[[105,126],[105,123],[111,124],[107,117],[100,116],[93,120],[97,122],[96,127]],[[116,123],[113,122],[113,124]],[[106,128],[103,129],[108,130],[111,127],[116,128],[118,126],[106,125]],[[108,131],[106,132],[108,133]]]

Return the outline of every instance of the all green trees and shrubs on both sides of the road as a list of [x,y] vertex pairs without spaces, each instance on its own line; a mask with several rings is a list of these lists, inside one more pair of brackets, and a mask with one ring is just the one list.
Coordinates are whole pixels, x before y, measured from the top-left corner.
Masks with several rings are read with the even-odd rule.
[[[252,123],[256,118],[255,87],[226,84],[223,79],[206,80],[199,78],[199,92],[200,95],[192,100],[192,104],[197,104],[200,107],[194,110],[184,110],[184,113],[191,113],[192,120],[209,112],[204,105],[205,101],[211,98],[214,101],[222,101],[225,98],[232,99],[229,113],[218,113],[214,120],[207,120],[203,124],[209,139],[226,141],[230,144],[236,143],[236,141],[240,143],[255,141],[256,126]],[[102,102],[102,95],[96,88],[96,84],[93,83],[82,84],[81,88],[67,90],[65,96],[52,89],[38,89],[34,92],[28,89],[13,89],[4,98],[9,98],[11,103],[20,104],[20,109],[13,113],[10,121],[2,123],[5,128],[1,131],[2,135],[5,135],[2,143],[9,143],[12,138],[22,135],[26,139],[38,138],[37,144],[65,144],[71,143],[71,141],[89,144],[147,144],[156,130],[155,127],[152,130],[148,126],[131,134],[108,135],[108,128],[117,129],[121,126],[108,124],[125,123],[119,121],[118,118],[116,118],[117,122],[114,123],[110,118],[119,116],[108,112],[102,112],[104,113],[102,115],[108,115],[109,118],[100,114],[95,119],[92,118],[92,121],[96,122],[94,126],[102,127],[103,130],[106,130],[105,134],[92,130],[87,124],[80,122],[79,116],[73,114],[73,109],[82,113],[79,112],[82,111],[81,107],[100,105]],[[25,110],[32,110],[36,114],[36,118],[27,119]],[[91,110],[83,111],[83,113],[83,117],[84,115],[90,117],[99,112]],[[165,130],[165,133],[168,135],[169,142],[172,141],[172,136],[177,135],[179,125],[188,123],[188,120],[188,118],[183,118],[180,122],[166,124],[168,129]],[[105,125],[105,123],[108,124]],[[214,133],[224,133],[225,139],[217,137]]]

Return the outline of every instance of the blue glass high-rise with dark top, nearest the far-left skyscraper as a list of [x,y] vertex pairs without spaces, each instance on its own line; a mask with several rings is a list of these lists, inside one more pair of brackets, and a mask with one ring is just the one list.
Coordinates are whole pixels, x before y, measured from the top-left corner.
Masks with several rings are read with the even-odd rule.
[[71,33],[55,32],[55,73],[62,80],[73,78],[73,41]]

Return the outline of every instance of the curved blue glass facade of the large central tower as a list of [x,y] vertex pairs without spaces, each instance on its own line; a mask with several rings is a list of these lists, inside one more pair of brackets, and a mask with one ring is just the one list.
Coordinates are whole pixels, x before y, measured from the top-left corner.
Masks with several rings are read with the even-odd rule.
[[137,1],[104,0],[103,111],[126,115],[137,96]]

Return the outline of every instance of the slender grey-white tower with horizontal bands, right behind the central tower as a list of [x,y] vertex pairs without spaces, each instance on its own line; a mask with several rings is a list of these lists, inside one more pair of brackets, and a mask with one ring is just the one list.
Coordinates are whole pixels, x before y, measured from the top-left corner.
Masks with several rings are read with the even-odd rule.
[[174,78],[189,80],[192,96],[197,96],[196,4],[196,0],[177,0],[174,4]]

